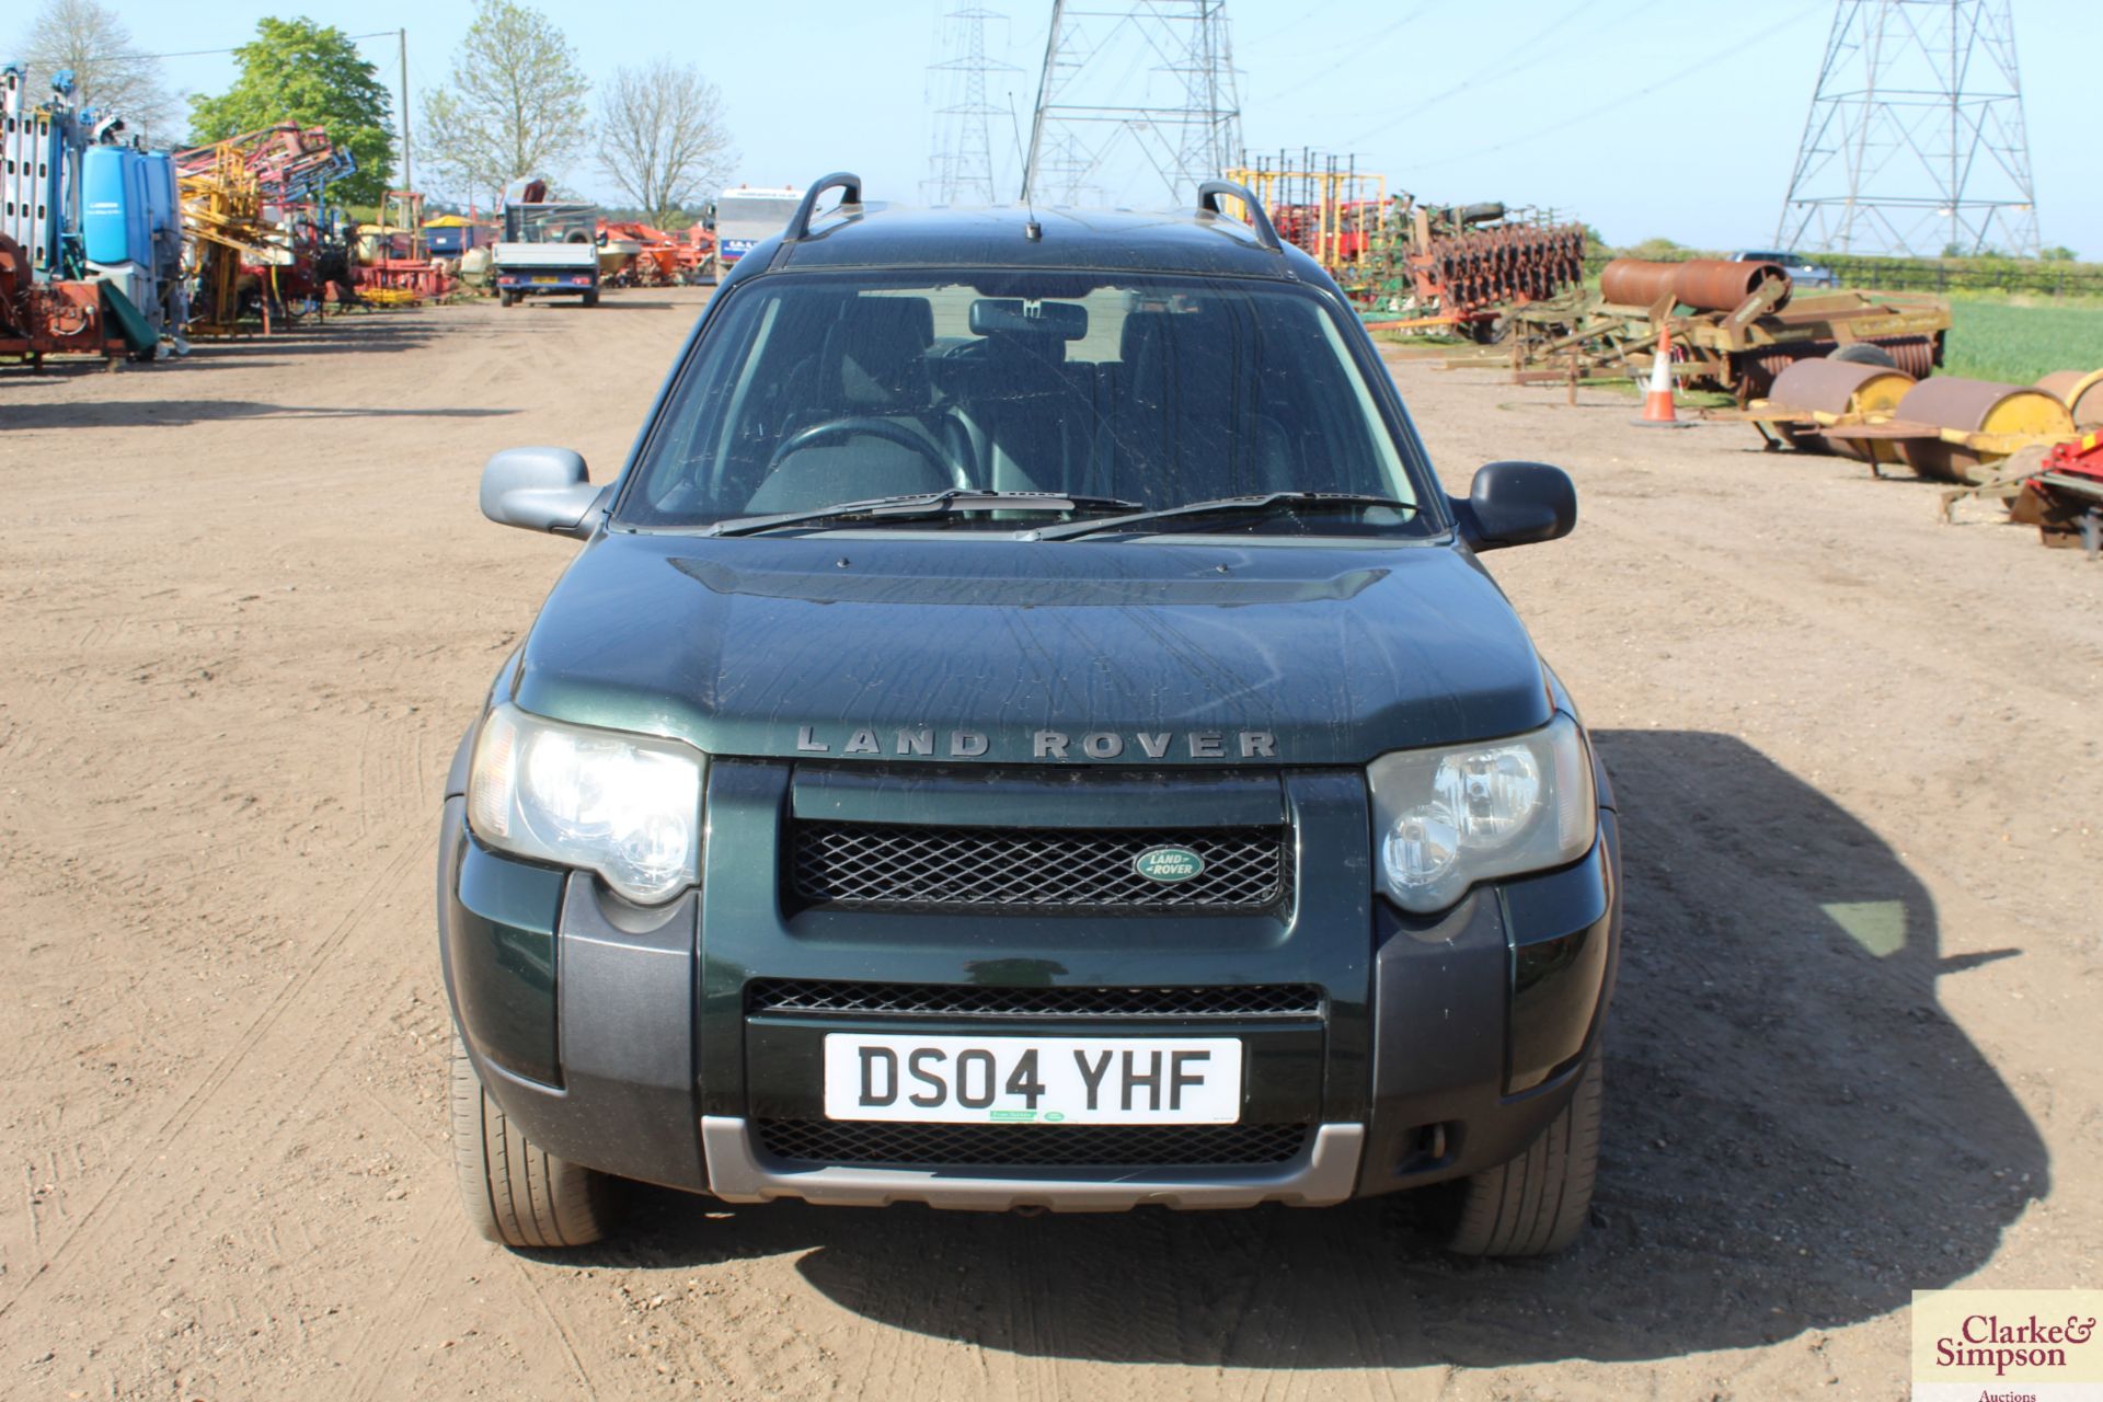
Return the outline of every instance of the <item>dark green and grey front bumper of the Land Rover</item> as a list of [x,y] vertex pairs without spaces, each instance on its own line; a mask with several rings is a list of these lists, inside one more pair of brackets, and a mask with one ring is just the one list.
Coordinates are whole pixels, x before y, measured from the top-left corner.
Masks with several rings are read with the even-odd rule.
[[[797,782],[776,763],[711,767],[702,889],[654,912],[606,898],[587,874],[479,847],[452,799],[440,929],[454,1015],[490,1093],[545,1150],[736,1202],[1323,1204],[1516,1156],[1567,1104],[1605,1017],[1619,931],[1613,813],[1600,813],[1600,841],[1581,862],[1481,887],[1417,921],[1371,895],[1361,774],[1285,771],[1274,784],[1295,834],[1289,908],[1129,919],[797,910],[780,881]],[[1146,824],[1192,822],[1176,805],[1152,797]],[[1279,1162],[1226,1167],[782,1158],[763,1127],[822,1116],[814,1049],[824,1032],[976,1032],[986,1022],[763,1011],[747,998],[761,980],[1314,986],[1312,1017],[1030,1028],[1241,1036],[1245,1118],[1302,1125],[1304,1139]]]

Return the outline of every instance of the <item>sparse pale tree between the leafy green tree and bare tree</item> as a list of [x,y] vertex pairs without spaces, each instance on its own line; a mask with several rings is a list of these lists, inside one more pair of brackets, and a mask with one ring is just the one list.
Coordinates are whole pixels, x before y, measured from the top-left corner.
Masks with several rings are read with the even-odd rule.
[[540,11],[479,0],[452,53],[452,84],[423,101],[418,158],[454,195],[492,198],[522,174],[545,177],[585,145],[591,80]]

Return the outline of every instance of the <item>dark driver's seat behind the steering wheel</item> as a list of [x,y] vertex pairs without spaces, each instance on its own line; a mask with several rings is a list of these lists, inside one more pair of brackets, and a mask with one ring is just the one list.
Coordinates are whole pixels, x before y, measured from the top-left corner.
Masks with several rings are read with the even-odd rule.
[[[814,511],[835,502],[942,492],[957,481],[944,462],[957,454],[930,433],[934,387],[927,378],[927,347],[934,345],[934,307],[923,296],[856,296],[824,336],[818,353],[818,393],[808,420],[797,431],[845,418],[881,418],[925,450],[890,437],[856,433],[816,439],[774,462],[744,511]],[[793,433],[791,433],[793,437]]]

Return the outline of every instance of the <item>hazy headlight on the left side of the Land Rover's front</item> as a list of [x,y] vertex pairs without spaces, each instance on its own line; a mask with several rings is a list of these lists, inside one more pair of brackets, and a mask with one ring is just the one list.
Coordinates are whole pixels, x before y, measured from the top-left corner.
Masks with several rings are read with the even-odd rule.
[[673,740],[490,710],[467,780],[467,826],[522,858],[585,866],[639,904],[700,879],[707,757]]

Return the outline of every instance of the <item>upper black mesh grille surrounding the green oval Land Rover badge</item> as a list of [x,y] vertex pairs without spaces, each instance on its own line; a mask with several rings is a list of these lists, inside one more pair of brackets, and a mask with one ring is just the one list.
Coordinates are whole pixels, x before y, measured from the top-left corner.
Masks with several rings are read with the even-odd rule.
[[[1188,847],[1205,868],[1148,881],[1134,858]],[[1270,910],[1287,898],[1281,828],[1060,830],[799,822],[791,883],[805,902],[894,908]]]

